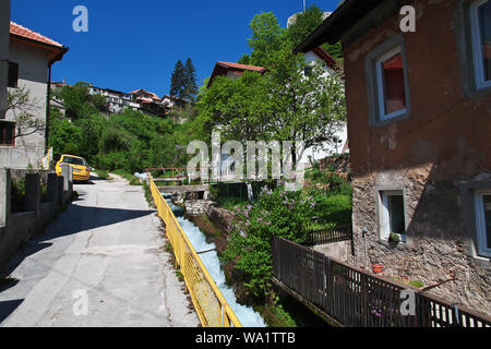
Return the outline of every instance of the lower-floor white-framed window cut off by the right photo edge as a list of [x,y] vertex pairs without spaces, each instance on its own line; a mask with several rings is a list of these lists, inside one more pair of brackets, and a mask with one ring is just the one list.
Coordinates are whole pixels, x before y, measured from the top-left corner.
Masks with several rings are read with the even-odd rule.
[[478,254],[491,257],[491,190],[475,194]]

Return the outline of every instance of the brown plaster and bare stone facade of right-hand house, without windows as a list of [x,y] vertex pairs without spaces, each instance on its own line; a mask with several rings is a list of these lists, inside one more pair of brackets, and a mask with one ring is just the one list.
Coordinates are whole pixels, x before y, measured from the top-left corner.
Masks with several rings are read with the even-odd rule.
[[[415,1],[417,32],[403,34],[410,116],[383,127],[369,125],[366,57],[398,31],[398,15],[371,23],[345,45],[348,129],[354,182],[357,264],[368,255],[387,275],[427,286],[431,292],[491,313],[491,263],[476,255],[472,185],[491,188],[491,96],[469,98],[460,79],[456,37],[463,31],[462,1]],[[404,193],[407,243],[380,239],[380,191]],[[369,263],[370,263],[369,262]],[[455,279],[455,280],[453,280]]]

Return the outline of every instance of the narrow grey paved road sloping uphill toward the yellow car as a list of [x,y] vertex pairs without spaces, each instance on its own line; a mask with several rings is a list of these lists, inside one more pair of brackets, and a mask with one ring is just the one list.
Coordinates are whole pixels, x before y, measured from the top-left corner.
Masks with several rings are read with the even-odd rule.
[[95,178],[74,190],[7,266],[0,326],[197,326],[142,188]]

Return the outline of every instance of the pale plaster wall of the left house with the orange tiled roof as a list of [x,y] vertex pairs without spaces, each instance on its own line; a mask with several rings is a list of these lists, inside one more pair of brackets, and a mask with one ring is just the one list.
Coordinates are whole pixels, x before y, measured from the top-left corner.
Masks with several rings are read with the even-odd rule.
[[[19,63],[19,87],[29,92],[26,111],[46,122],[46,98],[48,93],[48,52],[22,43],[10,41],[9,60]],[[9,88],[14,92],[13,88]],[[7,120],[14,120],[20,110],[9,110]],[[45,133],[15,139],[15,146],[0,147],[0,167],[39,169],[45,153]]]

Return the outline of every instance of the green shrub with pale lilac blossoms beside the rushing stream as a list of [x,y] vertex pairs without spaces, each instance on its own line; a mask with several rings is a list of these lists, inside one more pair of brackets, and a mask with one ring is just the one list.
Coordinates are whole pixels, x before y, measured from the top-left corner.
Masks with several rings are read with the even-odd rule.
[[244,286],[253,296],[265,294],[271,287],[272,237],[304,242],[314,213],[313,197],[286,192],[283,186],[264,189],[254,205],[236,213],[224,257],[246,273]]

